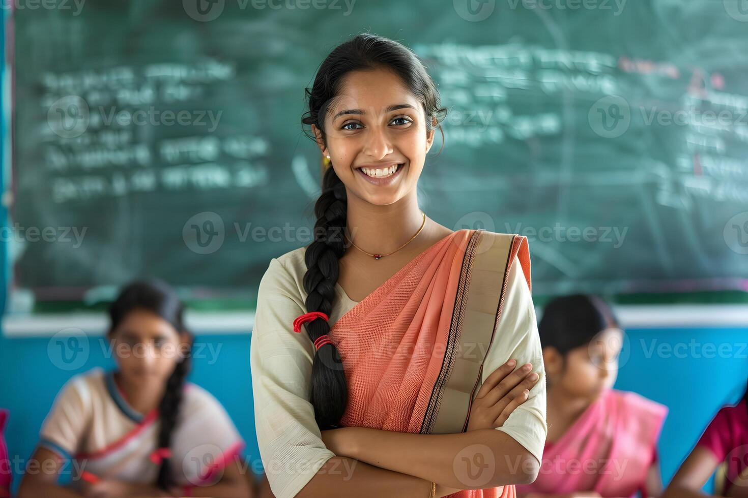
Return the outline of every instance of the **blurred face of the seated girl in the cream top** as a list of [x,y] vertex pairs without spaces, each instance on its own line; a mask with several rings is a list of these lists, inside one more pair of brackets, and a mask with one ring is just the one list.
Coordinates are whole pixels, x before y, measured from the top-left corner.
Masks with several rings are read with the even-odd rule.
[[109,334],[120,373],[132,382],[166,382],[186,352],[186,336],[151,311],[136,309]]

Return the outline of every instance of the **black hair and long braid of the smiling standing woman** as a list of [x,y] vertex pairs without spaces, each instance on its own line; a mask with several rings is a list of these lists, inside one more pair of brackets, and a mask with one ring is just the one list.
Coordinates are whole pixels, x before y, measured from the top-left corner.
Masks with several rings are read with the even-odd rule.
[[[330,102],[340,93],[343,77],[349,72],[378,68],[389,69],[399,75],[405,87],[423,105],[426,130],[438,127],[444,139],[444,131],[439,123],[444,119],[446,108],[440,105],[438,90],[426,72],[426,66],[407,47],[375,34],[359,34],[330,52],[319,66],[313,87],[305,89],[309,111],[304,113],[301,122],[315,125],[322,134],[322,140],[325,140],[325,116]],[[444,146],[444,140],[442,142]],[[307,246],[305,254],[307,312],[322,311],[329,315],[332,311],[339,272],[338,260],[346,252],[343,230],[346,228],[347,208],[346,187],[330,166],[322,178],[322,193],[314,206],[317,218],[314,242]],[[328,323],[320,319],[306,323],[306,329],[312,341],[330,332]],[[348,402],[348,387],[334,344],[325,344],[314,355],[310,402],[320,429],[338,426]]]

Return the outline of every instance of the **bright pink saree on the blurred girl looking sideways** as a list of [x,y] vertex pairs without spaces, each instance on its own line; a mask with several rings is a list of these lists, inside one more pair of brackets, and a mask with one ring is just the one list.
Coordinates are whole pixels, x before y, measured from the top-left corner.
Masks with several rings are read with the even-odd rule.
[[637,393],[604,390],[559,441],[546,443],[538,479],[517,491],[647,496],[646,476],[666,414],[666,406]]

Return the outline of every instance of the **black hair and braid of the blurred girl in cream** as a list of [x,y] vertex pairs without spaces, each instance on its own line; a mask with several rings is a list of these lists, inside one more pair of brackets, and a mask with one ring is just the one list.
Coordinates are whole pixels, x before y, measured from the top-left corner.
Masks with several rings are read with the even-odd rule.
[[[127,314],[138,309],[147,310],[162,317],[179,333],[186,332],[182,302],[171,287],[158,280],[134,281],[120,290],[117,299],[109,306],[109,332],[117,329]],[[157,446],[159,448],[169,448],[171,446],[171,434],[177,424],[177,414],[179,414],[184,392],[183,387],[191,367],[191,341],[186,351],[180,349],[180,353],[183,353],[184,358],[177,361],[174,366],[174,371],[166,381],[164,396],[159,403],[161,422]],[[162,458],[157,485],[163,490],[168,490],[175,484],[171,476],[170,458]]]

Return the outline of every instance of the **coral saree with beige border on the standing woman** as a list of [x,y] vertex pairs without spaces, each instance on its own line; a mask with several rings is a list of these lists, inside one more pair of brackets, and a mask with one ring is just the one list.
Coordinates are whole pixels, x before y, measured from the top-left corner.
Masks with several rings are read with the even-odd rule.
[[[342,425],[465,432],[515,255],[529,286],[527,237],[455,231],[340,317],[329,335],[349,385]],[[513,485],[450,495],[515,496]]]

